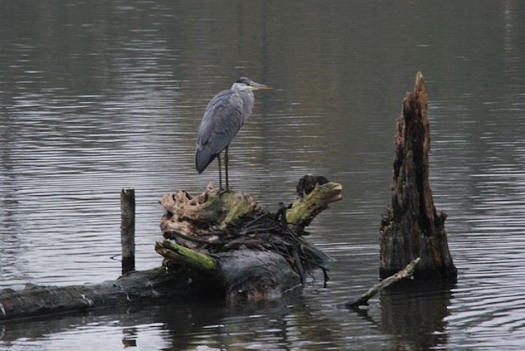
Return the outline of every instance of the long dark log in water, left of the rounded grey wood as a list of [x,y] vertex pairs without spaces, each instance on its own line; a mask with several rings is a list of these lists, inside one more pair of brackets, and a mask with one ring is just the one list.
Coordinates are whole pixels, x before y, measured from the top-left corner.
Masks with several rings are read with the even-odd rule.
[[[74,286],[27,284],[22,290],[0,290],[0,322],[97,307],[199,298],[205,296],[204,286],[207,288],[211,286],[208,279],[187,269],[168,272],[166,267],[130,272],[119,279],[100,284]],[[206,293],[206,295],[211,294]]]

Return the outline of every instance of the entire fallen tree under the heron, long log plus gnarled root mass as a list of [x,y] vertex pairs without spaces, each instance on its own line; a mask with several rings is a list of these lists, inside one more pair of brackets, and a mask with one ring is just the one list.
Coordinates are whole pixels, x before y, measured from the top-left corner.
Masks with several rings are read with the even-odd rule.
[[[100,284],[2,289],[0,322],[204,297],[277,298],[298,286],[314,268],[326,273],[323,264],[330,260],[290,227],[306,227],[329,202],[340,199],[341,187],[316,183],[308,191],[303,191],[294,204],[281,205],[276,213],[264,211],[242,192],[219,192],[208,187],[194,199],[185,192],[168,194],[161,201],[166,208],[161,220],[166,239],[155,246],[165,258],[162,267],[129,272]],[[312,198],[319,202],[314,204]],[[316,213],[302,215],[308,223],[288,223],[286,212],[295,206]]]

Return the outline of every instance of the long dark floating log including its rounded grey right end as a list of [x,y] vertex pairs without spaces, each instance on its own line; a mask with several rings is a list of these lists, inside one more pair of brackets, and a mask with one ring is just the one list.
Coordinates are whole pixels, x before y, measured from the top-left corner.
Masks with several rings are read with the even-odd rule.
[[[100,284],[37,286],[0,290],[0,322],[115,305],[158,304],[199,299],[272,299],[299,284],[280,255],[241,249],[220,253],[214,263],[134,271]],[[206,271],[207,270],[207,271]],[[249,272],[249,273],[248,273]]]

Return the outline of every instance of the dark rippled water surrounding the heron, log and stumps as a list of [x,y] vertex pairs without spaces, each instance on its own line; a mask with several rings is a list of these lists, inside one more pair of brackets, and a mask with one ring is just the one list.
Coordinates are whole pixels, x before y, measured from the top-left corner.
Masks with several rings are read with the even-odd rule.
[[[519,350],[525,347],[525,7],[521,1],[2,1],[0,287],[119,275],[119,191],[137,195],[137,267],[194,171],[208,100],[259,92],[230,185],[270,210],[305,173],[343,184],[311,226],[331,282],[255,305],[100,310],[0,327],[11,350]],[[431,185],[458,283],[378,279],[395,120],[422,70]],[[320,277],[317,277],[320,278]]]

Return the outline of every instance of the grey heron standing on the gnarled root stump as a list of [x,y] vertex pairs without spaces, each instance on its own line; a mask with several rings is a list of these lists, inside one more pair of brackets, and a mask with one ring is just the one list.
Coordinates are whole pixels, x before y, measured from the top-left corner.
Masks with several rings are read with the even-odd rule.
[[197,150],[195,151],[195,168],[202,173],[208,164],[217,157],[219,163],[219,189],[222,190],[220,171],[220,153],[224,150],[226,190],[228,183],[228,147],[241,129],[244,121],[251,114],[253,91],[271,89],[265,84],[256,83],[250,78],[241,77],[232,88],[221,91],[211,99],[202,117],[197,133]]

